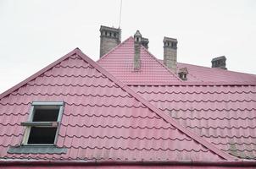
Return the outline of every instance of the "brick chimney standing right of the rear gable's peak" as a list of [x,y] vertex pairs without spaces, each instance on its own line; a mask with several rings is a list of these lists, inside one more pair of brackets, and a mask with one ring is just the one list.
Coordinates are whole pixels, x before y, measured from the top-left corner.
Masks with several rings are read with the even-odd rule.
[[176,73],[177,43],[174,38],[164,37],[164,65]]

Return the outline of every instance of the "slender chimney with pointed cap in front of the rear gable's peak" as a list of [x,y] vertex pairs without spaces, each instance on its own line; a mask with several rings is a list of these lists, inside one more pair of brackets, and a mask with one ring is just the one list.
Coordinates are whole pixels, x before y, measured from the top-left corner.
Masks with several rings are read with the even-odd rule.
[[139,30],[136,30],[134,35],[134,58],[133,67],[135,71],[141,68],[141,44],[142,44],[142,34]]

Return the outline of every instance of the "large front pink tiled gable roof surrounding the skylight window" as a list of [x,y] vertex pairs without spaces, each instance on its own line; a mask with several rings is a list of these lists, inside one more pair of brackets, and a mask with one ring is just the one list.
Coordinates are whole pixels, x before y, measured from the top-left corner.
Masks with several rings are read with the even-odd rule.
[[[0,157],[43,160],[233,160],[187,131],[79,49],[1,95]],[[31,101],[64,101],[58,147],[67,154],[8,154]]]

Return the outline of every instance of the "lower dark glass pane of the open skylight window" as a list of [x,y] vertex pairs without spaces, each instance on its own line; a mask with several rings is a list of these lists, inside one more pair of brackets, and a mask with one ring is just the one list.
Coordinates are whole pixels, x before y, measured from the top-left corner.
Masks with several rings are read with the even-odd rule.
[[54,144],[57,128],[31,128],[28,144]]

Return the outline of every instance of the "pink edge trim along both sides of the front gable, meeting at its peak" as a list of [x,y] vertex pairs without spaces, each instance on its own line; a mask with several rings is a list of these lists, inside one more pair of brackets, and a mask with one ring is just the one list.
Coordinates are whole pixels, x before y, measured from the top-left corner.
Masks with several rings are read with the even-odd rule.
[[57,61],[51,63],[48,65],[46,68],[42,68],[42,70],[38,71],[36,74],[31,75],[31,77],[23,80],[20,82],[18,85],[15,85],[11,89],[5,91],[3,94],[0,95],[0,99],[2,99],[4,96],[9,95],[11,92],[14,90],[19,89],[19,87],[27,84],[29,81],[32,79],[35,79],[36,77],[40,76],[41,74],[45,73],[48,69],[53,68],[56,66],[58,63],[61,63],[64,61],[64,59],[73,56],[74,54],[77,54],[79,57],[81,57],[83,60],[85,60],[87,63],[91,64],[93,68],[96,68],[97,71],[99,71],[101,74],[105,75],[108,77],[109,80],[113,81],[116,85],[119,85],[122,90],[125,90],[127,93],[135,97],[137,101],[142,102],[147,108],[155,112],[159,117],[162,117],[164,121],[167,123],[170,123],[173,125],[175,128],[181,131],[181,133],[186,134],[188,137],[194,139],[198,144],[203,145],[204,147],[208,148],[210,151],[212,151],[214,154],[219,155],[220,157],[224,158],[225,160],[237,160],[234,156],[226,154],[224,151],[219,150],[216,148],[213,144],[210,144],[206,140],[200,138],[197,134],[192,133],[189,131],[187,128],[181,126],[180,123],[177,123],[174,119],[172,119],[170,116],[159,110],[159,108],[153,106],[151,103],[146,101],[142,96],[136,94],[134,90],[131,90],[131,88],[128,85],[123,84],[120,80],[116,79],[112,74],[110,74],[107,70],[102,68],[100,65],[98,65],[96,62],[94,62],[90,57],[87,57],[86,54],[81,52],[79,48],[75,48],[72,52],[69,52],[68,54],[64,55],[64,57],[59,58]]

